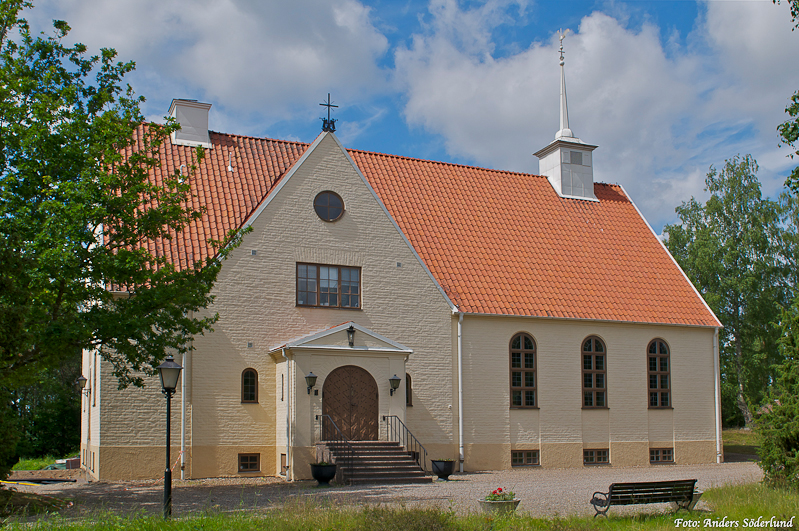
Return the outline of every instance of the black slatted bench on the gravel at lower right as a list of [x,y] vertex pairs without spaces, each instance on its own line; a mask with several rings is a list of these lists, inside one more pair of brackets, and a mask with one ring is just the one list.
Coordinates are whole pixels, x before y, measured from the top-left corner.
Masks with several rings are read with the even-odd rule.
[[[675,503],[677,510],[693,508],[695,479],[677,481],[649,481],[644,483],[613,483],[608,492],[595,492],[591,498],[596,514],[607,517],[611,505],[638,505],[644,503]],[[697,496],[697,499],[699,497]]]

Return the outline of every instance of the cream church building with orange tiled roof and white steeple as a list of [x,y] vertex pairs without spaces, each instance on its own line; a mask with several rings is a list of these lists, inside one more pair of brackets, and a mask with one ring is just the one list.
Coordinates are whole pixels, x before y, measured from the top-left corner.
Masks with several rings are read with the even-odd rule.
[[[175,476],[309,478],[332,440],[399,441],[426,470],[720,462],[721,324],[625,190],[594,182],[561,95],[538,174],[349,149],[332,120],[310,144],[211,132],[211,105],[174,100],[152,177],[202,147],[205,213],[158,252],[181,267],[252,229],[214,331],[175,360]],[[83,375],[88,473],[160,477],[157,378],[120,391],[89,351]]]

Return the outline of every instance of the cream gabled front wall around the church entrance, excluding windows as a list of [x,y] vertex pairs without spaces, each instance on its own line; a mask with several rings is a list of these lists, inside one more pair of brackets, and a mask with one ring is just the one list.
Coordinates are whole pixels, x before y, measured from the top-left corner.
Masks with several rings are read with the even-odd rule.
[[[313,209],[314,197],[325,190],[339,194],[345,204],[345,214],[333,223],[320,220]],[[195,340],[195,446],[229,446],[230,453],[233,445],[274,447],[277,458],[270,473],[278,473],[279,455],[286,446],[285,408],[293,405],[292,444],[313,454],[312,429],[321,396],[307,394],[304,376],[313,370],[320,376],[321,389],[332,369],[353,360],[292,352],[292,373],[269,352],[347,321],[413,350],[405,366],[416,388],[408,421],[420,438],[451,441],[449,306],[332,136],[322,138],[284,179],[252,229],[224,264],[214,289],[211,311],[220,316],[215,331]],[[361,309],[295,306],[297,262],[361,267]],[[397,373],[404,380],[404,361],[382,354],[356,361],[367,366],[377,382],[381,415],[401,410],[404,382],[399,393],[388,397],[388,378]],[[241,371],[247,367],[259,374],[258,404],[240,403]],[[291,398],[281,400],[278,394],[284,385],[281,375]],[[299,462],[293,470],[300,474]]]

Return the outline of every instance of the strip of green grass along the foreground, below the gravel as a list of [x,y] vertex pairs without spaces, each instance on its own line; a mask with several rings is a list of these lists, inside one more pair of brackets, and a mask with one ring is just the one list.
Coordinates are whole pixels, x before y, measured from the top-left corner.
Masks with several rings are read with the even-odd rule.
[[[264,513],[248,512],[246,508],[227,514],[196,514],[164,522],[156,516],[119,516],[97,514],[83,521],[68,521],[59,517],[37,523],[8,521],[7,529],[41,531],[482,531],[482,530],[546,530],[546,531],[673,531],[691,527],[718,527],[718,522],[738,522],[737,527],[753,526],[758,518],[788,520],[799,516],[799,494],[776,491],[759,484],[721,487],[708,490],[702,500],[709,511],[680,511],[678,514],[656,515],[651,508],[641,506],[634,517],[613,514],[609,518],[569,517],[532,518],[523,513],[489,518],[483,514],[455,515],[447,508],[342,508],[332,504],[296,503]],[[725,520],[726,517],[726,520]],[[714,525],[715,523],[715,525]],[[1,525],[1,522],[0,522]],[[689,524],[690,525],[690,524]],[[794,525],[799,525],[794,521]],[[765,526],[760,526],[761,528]]]

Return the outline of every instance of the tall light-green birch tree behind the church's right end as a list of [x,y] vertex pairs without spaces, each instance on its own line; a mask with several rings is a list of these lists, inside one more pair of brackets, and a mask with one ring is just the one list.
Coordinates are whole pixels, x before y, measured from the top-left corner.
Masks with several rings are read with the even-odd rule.
[[677,208],[681,223],[667,225],[666,245],[715,312],[719,331],[723,406],[726,420],[735,420],[729,406],[751,426],[758,405],[780,361],[778,305],[787,302],[789,287],[781,223],[781,206],[763,198],[751,156],[710,168],[705,190],[710,199],[691,198]]

